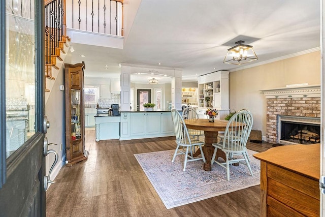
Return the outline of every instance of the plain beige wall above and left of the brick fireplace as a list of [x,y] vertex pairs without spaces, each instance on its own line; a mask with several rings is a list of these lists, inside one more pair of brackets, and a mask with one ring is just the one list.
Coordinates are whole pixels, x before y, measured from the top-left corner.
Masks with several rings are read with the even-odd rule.
[[320,84],[320,52],[312,52],[229,74],[229,104],[236,111],[247,108],[254,117],[253,129],[266,135],[266,98],[260,90],[287,84]]

